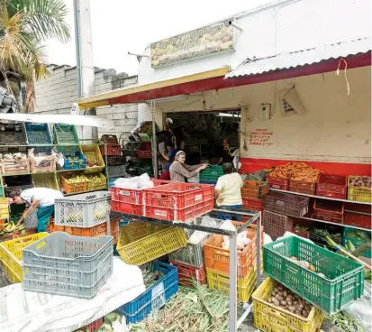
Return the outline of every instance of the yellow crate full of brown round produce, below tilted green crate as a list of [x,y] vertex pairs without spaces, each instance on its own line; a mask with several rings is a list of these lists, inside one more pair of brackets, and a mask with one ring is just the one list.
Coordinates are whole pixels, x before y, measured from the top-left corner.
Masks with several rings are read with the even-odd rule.
[[322,326],[321,309],[267,278],[252,295],[254,325],[260,331],[315,332]]

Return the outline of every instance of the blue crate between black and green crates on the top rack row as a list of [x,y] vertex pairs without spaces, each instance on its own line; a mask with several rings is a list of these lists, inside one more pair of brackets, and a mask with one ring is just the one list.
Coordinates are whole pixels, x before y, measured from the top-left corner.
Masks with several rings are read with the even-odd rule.
[[24,124],[26,139],[34,152],[51,152],[52,146],[32,146],[32,144],[53,144],[49,124],[35,124],[26,122]]

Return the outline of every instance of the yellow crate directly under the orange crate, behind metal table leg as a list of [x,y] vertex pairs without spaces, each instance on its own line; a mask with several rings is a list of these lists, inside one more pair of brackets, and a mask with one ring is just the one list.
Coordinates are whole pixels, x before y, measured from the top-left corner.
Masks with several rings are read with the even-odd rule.
[[[216,272],[211,269],[205,269],[206,281],[208,287],[221,290],[225,294],[229,295],[230,289],[230,278],[228,274]],[[250,300],[254,289],[256,288],[256,267],[250,269],[249,274],[245,278],[238,278],[238,300],[241,302],[247,302]]]

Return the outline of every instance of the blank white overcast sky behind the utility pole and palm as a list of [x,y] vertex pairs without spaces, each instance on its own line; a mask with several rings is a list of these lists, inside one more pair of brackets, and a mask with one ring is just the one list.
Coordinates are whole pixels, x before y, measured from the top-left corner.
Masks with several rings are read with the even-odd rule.
[[[65,0],[71,40],[66,44],[46,42],[47,60],[58,65],[76,65],[73,0]],[[150,42],[188,32],[232,14],[272,0],[90,0],[93,60],[95,67],[137,74],[133,53],[143,53]],[[179,4],[182,4],[179,6]]]

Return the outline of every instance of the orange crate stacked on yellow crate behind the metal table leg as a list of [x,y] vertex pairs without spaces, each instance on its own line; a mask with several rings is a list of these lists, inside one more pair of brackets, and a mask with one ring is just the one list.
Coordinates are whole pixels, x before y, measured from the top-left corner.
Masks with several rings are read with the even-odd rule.
[[[241,223],[234,223],[236,226]],[[250,239],[250,244],[246,245],[244,249],[237,253],[238,261],[238,277],[246,277],[256,264],[257,256],[257,228],[251,225],[247,237]],[[261,234],[263,239],[263,232]],[[226,273],[230,272],[230,250],[222,249],[223,235],[213,234],[204,243],[204,263],[205,268],[215,272]],[[263,243],[263,240],[262,240]]]

